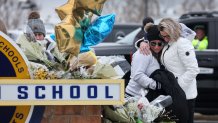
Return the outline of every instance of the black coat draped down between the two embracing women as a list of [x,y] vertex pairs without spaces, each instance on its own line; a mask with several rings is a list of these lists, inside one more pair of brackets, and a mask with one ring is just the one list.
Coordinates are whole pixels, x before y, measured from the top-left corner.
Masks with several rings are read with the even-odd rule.
[[170,109],[179,119],[178,122],[187,123],[189,112],[185,92],[179,86],[173,73],[165,69],[158,69],[151,74],[150,78],[160,82],[162,91],[172,97],[173,104],[170,106]]

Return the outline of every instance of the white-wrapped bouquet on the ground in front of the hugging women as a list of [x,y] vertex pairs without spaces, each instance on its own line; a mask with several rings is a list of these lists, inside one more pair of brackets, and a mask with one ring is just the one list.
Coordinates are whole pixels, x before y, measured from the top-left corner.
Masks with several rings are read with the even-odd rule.
[[166,111],[165,107],[172,104],[170,96],[160,95],[152,102],[145,97],[146,90],[140,90],[141,97],[128,97],[123,105],[128,115],[135,119],[136,123],[164,122],[175,123],[177,120],[171,111]]

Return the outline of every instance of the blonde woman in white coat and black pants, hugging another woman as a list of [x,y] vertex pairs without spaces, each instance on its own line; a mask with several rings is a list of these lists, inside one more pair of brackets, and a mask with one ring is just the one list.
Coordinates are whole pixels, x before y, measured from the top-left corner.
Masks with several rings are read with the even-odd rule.
[[159,25],[160,35],[167,42],[161,63],[178,78],[178,84],[186,94],[189,118],[193,123],[195,98],[197,97],[196,76],[199,73],[194,47],[191,41],[181,37],[181,26],[171,18],[164,18]]

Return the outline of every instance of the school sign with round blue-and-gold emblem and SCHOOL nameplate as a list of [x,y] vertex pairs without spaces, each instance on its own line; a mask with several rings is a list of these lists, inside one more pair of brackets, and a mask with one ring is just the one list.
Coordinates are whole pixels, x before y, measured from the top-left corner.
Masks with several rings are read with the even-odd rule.
[[123,80],[33,80],[18,45],[0,32],[0,122],[41,120],[44,106],[116,105],[124,102]]

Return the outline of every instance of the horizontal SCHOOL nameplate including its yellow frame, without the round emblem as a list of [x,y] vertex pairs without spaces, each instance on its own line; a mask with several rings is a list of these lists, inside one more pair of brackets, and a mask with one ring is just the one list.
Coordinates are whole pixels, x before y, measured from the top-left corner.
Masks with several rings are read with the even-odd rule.
[[[122,84],[121,84],[122,83]],[[123,104],[122,80],[0,80],[0,105]]]

